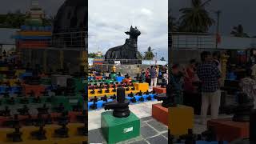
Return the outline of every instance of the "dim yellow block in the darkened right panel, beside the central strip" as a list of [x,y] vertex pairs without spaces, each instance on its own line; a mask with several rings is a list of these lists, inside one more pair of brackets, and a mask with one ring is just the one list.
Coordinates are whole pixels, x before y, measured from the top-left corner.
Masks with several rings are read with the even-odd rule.
[[194,109],[190,106],[179,105],[168,110],[168,127],[170,134],[180,136],[187,134],[188,129],[193,129]]

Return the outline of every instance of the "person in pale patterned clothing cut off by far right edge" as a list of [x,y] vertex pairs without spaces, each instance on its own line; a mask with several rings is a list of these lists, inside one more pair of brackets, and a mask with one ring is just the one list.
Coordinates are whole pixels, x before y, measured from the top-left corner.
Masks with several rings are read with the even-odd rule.
[[246,70],[246,74],[240,80],[239,86],[242,92],[254,100],[254,108],[256,108],[256,81],[251,76],[251,70]]

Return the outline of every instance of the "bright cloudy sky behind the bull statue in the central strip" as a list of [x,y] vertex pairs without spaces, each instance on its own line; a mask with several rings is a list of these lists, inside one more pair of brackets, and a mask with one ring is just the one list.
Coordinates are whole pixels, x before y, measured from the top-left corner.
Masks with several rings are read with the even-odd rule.
[[125,31],[137,26],[138,50],[144,52],[151,46],[158,58],[166,59],[168,41],[167,0],[89,0],[88,36],[89,52],[98,48],[106,53],[111,47],[123,45],[129,35]]

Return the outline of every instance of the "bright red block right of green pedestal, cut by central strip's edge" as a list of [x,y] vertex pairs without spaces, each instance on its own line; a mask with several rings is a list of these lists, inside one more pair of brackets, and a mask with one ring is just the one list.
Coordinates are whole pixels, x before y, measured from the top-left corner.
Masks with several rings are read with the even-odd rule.
[[152,105],[152,117],[168,126],[168,109],[162,103]]

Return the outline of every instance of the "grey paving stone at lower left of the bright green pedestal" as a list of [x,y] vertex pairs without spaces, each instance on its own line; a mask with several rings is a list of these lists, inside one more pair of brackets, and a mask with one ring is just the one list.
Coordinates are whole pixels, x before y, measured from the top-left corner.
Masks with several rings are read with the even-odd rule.
[[88,132],[89,143],[103,143],[106,142],[102,136],[101,129],[90,130]]

